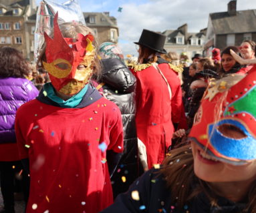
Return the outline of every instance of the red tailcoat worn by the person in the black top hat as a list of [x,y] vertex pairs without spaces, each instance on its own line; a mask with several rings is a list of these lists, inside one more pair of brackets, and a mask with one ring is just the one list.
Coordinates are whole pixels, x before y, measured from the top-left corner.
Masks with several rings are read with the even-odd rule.
[[164,160],[172,143],[174,127],[179,122],[182,109],[180,79],[168,63],[158,65],[172,91],[172,99],[162,75],[150,66],[141,71],[132,69],[136,76],[136,128],[138,138],[146,146],[148,168]]

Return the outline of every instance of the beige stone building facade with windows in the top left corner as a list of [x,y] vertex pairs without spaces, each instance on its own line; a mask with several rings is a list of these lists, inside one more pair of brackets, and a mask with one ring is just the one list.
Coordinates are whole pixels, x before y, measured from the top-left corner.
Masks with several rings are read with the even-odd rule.
[[1,1],[0,47],[13,47],[33,61],[35,1]]

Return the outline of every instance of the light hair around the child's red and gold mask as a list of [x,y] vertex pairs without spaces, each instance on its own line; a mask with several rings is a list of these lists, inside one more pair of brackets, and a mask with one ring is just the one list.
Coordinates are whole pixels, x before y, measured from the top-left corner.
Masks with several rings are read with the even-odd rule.
[[[86,27],[85,25],[82,25],[80,23],[72,23],[72,22],[61,23],[61,24],[59,24],[59,29],[60,29],[63,37],[65,37],[65,38],[77,39],[78,33],[81,33],[83,35],[88,35],[90,33],[90,34],[94,35],[94,33],[92,32],[92,29],[90,29],[89,27]],[[49,36],[53,37],[53,32]],[[94,49],[96,50],[95,58],[94,58],[94,77],[96,77],[96,79],[98,79],[98,78],[100,78],[102,67],[100,64],[100,59],[98,58],[98,41],[96,41],[95,37],[94,37],[94,41],[92,42],[92,45],[94,45]],[[37,60],[38,68],[41,68],[42,61],[46,61],[45,60],[45,47],[46,47],[46,44],[44,43],[43,47],[41,49],[41,53]]]

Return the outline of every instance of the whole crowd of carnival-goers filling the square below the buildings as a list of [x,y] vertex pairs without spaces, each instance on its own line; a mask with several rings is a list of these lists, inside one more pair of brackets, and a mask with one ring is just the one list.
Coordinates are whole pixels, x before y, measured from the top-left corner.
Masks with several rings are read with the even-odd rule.
[[138,60],[58,23],[36,65],[0,49],[0,179],[15,212],[256,212],[255,43],[187,66],[144,29]]

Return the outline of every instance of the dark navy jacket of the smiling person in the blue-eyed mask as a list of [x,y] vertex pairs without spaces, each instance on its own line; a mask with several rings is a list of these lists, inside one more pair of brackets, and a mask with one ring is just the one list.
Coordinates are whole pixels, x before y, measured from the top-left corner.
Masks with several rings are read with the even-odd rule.
[[[132,198],[132,193],[139,193],[139,200]],[[135,197],[136,198],[136,197]],[[218,207],[211,206],[207,196],[199,194],[181,209],[170,202],[170,190],[166,187],[164,176],[160,170],[149,170],[136,180],[128,192],[120,194],[112,206],[101,213],[239,213],[245,204],[231,202],[226,198],[218,198]]]

